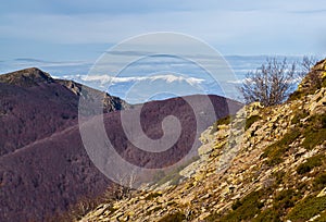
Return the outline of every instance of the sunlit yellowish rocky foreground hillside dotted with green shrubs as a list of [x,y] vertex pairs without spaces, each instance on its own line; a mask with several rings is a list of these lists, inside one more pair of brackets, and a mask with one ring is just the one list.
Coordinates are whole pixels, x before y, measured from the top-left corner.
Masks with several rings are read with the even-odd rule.
[[[326,60],[280,106],[246,106],[202,133],[200,158],[106,200],[86,221],[326,221]],[[178,178],[176,182],[174,178]]]

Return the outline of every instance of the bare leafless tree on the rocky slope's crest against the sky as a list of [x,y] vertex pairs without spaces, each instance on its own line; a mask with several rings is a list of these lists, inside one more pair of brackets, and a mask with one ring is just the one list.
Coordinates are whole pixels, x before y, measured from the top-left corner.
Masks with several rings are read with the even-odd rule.
[[247,74],[240,87],[244,101],[259,101],[263,106],[281,103],[291,91],[294,72],[296,63],[267,59],[266,64]]

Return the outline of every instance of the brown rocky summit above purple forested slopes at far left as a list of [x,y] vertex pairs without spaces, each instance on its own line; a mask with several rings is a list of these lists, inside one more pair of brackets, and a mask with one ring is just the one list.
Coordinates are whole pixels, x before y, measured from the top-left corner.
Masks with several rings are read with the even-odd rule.
[[16,86],[37,86],[40,83],[53,83],[53,78],[37,67],[28,67],[12,73],[0,75],[0,83],[7,83]]

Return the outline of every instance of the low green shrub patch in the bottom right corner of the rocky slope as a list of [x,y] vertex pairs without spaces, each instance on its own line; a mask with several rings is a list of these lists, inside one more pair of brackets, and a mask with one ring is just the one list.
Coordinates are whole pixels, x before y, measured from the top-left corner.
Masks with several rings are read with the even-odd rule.
[[287,219],[291,221],[306,221],[326,209],[326,196],[309,196],[294,206]]

